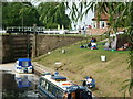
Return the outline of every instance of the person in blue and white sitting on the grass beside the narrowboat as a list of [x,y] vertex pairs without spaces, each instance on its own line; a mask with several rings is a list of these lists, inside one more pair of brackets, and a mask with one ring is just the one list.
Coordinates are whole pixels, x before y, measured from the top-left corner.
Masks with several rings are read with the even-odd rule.
[[95,87],[95,79],[93,79],[91,76],[90,77],[86,77],[84,80],[83,80],[83,86],[88,86],[89,88],[94,88]]

